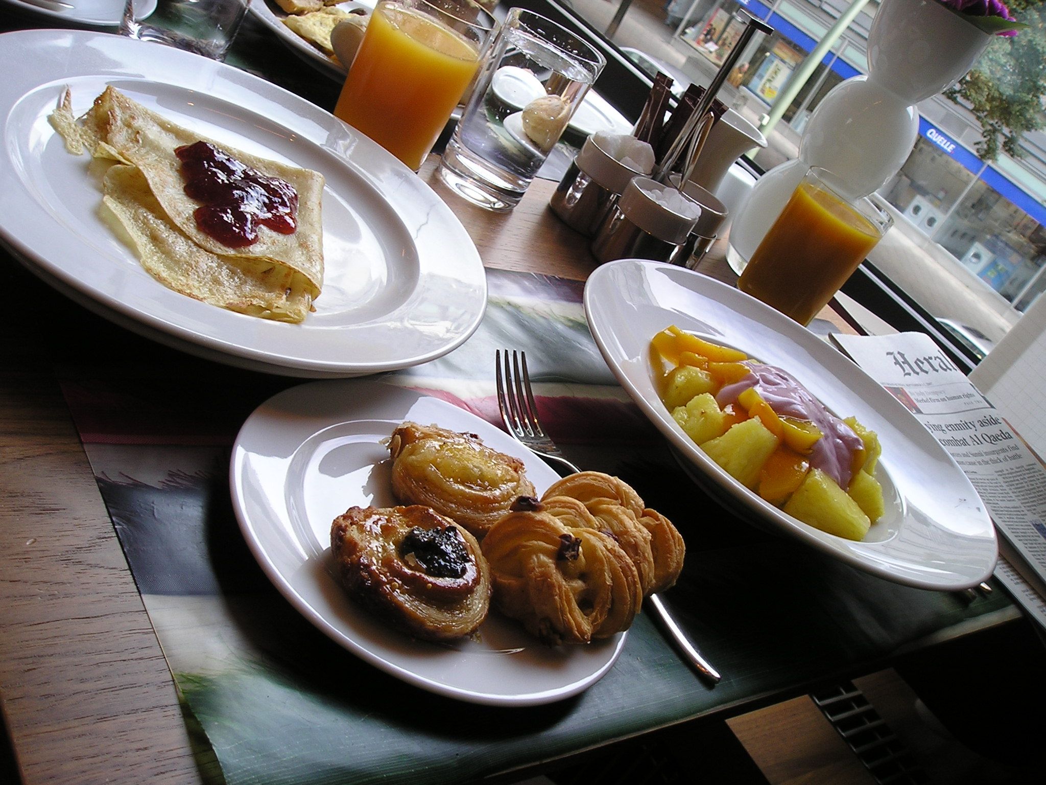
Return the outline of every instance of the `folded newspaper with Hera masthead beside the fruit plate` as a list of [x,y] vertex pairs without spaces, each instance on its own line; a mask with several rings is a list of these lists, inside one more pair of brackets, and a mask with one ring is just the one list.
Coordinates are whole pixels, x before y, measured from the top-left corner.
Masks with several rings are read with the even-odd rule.
[[923,333],[832,335],[959,465],[1000,538],[995,577],[1046,627],[1046,468],[965,375]]

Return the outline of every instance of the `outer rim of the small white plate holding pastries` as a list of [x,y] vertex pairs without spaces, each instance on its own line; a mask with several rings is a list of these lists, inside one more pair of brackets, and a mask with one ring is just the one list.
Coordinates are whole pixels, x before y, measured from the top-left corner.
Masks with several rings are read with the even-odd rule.
[[[474,414],[468,409],[463,409],[454,404],[445,401],[440,398],[426,395],[413,387],[403,386],[393,384],[384,379],[333,379],[333,380],[319,380],[312,381],[303,384],[298,384],[293,387],[280,390],[273,396],[270,396],[263,403],[260,403],[244,421],[240,430],[236,433],[236,438],[233,442],[230,458],[229,458],[229,491],[230,499],[232,501],[233,513],[236,518],[236,523],[240,528],[241,534],[244,540],[247,542],[248,548],[251,555],[257,561],[262,570],[265,573],[266,577],[273,584],[273,586],[279,591],[279,593],[297,610],[301,613],[313,626],[315,626],[320,632],[325,634],[336,644],[345,649],[348,653],[363,659],[369,665],[382,670],[403,681],[409,683],[413,687],[426,690],[428,692],[434,693],[436,695],[442,695],[445,697],[455,698],[469,703],[477,703],[482,705],[499,705],[499,706],[531,706],[531,705],[545,705],[548,703],[558,702],[566,698],[578,695],[582,692],[588,690],[592,685],[601,679],[616,664],[621,651],[624,648],[624,643],[628,638],[629,631],[619,632],[614,636],[615,643],[613,646],[613,651],[610,653],[609,658],[606,663],[601,664],[596,670],[587,674],[584,678],[577,679],[566,687],[545,690],[541,692],[530,692],[521,693],[518,695],[496,695],[491,693],[482,693],[470,690],[463,690],[457,687],[452,687],[434,681],[431,678],[420,676],[408,668],[389,663],[388,660],[382,658],[378,654],[363,649],[361,646],[350,642],[344,633],[339,632],[333,624],[327,622],[323,615],[308,604],[301,597],[298,596],[297,591],[290,584],[283,574],[279,568],[273,563],[268,553],[262,545],[259,538],[257,537],[252,522],[249,520],[249,516],[246,512],[245,499],[243,496],[243,472],[246,466],[247,453],[246,448],[243,446],[242,441],[244,436],[249,432],[249,429],[254,427],[258,420],[260,420],[265,412],[264,410],[269,407],[273,402],[278,399],[283,399],[294,396],[308,396],[310,388],[320,389],[321,387],[331,387],[332,385],[345,385],[345,386],[363,386],[363,387],[374,387],[380,388],[382,386],[391,386],[397,390],[405,390],[410,395],[415,397],[415,400],[423,398],[430,399],[432,401],[438,402],[439,405],[453,407],[457,413],[464,417],[467,420],[473,420],[475,424],[479,424],[479,430],[493,429],[502,433],[502,435],[511,440],[507,433],[500,431],[496,426],[493,426],[486,420]],[[346,400],[348,398],[346,397]],[[358,400],[363,400],[361,397]],[[347,408],[347,407],[346,407]],[[348,414],[346,414],[347,417]],[[377,416],[376,416],[377,417]],[[378,417],[377,419],[385,419]],[[322,429],[332,427],[329,423],[326,423]],[[514,442],[514,445],[518,447],[521,451],[525,452],[532,458],[535,466],[544,467],[547,469],[548,476],[555,476],[555,472],[548,467],[542,459],[529,450],[525,445],[519,442]],[[492,609],[493,610],[493,609]],[[509,620],[510,621],[510,620]],[[541,645],[540,642],[535,638],[535,645]],[[606,644],[610,646],[610,643]]]

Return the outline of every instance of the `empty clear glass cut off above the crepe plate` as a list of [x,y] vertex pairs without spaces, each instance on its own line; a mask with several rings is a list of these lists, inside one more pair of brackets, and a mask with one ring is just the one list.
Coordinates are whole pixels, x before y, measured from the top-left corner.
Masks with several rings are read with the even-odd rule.
[[[120,33],[224,60],[250,0],[127,0]],[[156,8],[149,14],[151,8]]]

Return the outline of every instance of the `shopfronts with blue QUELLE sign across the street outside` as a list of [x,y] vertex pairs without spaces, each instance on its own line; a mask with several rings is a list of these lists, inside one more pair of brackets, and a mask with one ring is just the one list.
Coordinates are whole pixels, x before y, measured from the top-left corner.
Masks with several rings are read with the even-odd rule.
[[[769,111],[848,5],[847,0],[693,0],[676,37],[714,70],[743,28],[737,12],[766,20],[774,33],[743,54],[730,75],[758,113],[760,106]],[[865,6],[788,107],[783,121],[793,131],[802,132],[833,87],[867,72],[867,35],[878,8],[879,0]],[[1046,290],[1046,134],[1028,134],[1020,160],[1000,153],[996,161],[982,161],[975,152],[980,127],[969,111],[942,96],[923,102],[918,110],[915,147],[881,196],[980,285],[1024,311]]]

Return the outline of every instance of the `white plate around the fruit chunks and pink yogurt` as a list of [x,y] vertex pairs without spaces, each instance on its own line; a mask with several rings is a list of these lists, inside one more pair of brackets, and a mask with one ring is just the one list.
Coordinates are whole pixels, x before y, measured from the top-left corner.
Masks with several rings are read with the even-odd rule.
[[[585,313],[607,363],[681,466],[743,517],[896,583],[954,590],[992,575],[995,529],[962,470],[893,396],[805,328],[733,287],[643,260],[596,268],[585,286]],[[676,424],[658,397],[650,354],[651,338],[669,324],[784,368],[837,416],[852,414],[879,434],[876,477],[887,511],[864,541],[786,515],[727,474]]]

